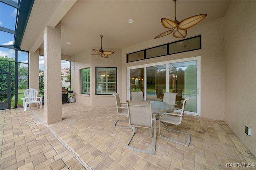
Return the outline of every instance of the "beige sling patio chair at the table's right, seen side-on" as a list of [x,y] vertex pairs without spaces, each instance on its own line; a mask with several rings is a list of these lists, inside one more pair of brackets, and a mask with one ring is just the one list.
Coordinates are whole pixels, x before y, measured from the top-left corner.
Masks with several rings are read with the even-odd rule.
[[[159,117],[159,135],[166,139],[166,140],[170,140],[172,142],[176,142],[178,144],[182,144],[184,146],[188,146],[189,143],[190,143],[190,134],[187,133],[187,132],[182,132],[180,130],[176,130],[176,129],[172,129],[172,128],[168,128],[166,126],[165,123],[170,123],[170,124],[173,124],[173,125],[180,125],[181,122],[182,122],[182,118],[184,116],[184,111],[185,111],[185,106],[186,106],[186,101],[188,101],[190,99],[190,96],[186,97],[183,101],[183,105],[182,105],[182,111],[181,113],[162,113]],[[175,132],[180,132],[180,133],[183,133],[183,134],[186,134],[187,135],[187,142],[180,142],[178,140],[174,140],[172,138],[167,138],[166,136],[162,135],[161,134],[161,122],[163,122],[163,125],[164,125],[164,128],[166,129],[167,132],[169,132],[168,130],[173,130]]]

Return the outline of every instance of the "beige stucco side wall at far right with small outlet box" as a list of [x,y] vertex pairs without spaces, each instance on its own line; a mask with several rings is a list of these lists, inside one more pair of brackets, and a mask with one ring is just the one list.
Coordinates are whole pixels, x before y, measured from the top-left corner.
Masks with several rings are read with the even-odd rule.
[[[232,1],[224,19],[225,119],[256,156],[256,1]],[[245,133],[245,126],[252,136]]]

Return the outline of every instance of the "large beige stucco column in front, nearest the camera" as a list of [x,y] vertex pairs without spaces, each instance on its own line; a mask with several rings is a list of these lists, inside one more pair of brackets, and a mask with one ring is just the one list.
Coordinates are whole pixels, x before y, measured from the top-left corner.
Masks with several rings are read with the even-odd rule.
[[44,29],[44,121],[62,121],[61,25]]

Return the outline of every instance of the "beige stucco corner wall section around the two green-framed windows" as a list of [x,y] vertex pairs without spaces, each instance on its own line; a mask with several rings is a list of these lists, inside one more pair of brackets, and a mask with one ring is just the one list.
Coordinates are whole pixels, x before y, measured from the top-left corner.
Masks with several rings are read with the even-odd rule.
[[[98,49],[99,47],[95,47]],[[93,105],[116,105],[116,101],[113,95],[96,95],[96,82],[95,82],[95,69],[96,67],[117,67],[117,92],[120,93],[122,89],[122,53],[121,49],[108,49],[105,51],[114,51],[114,54],[109,55],[108,58],[101,57],[100,55],[90,55],[95,53],[92,49],[87,49],[79,54],[72,56],[71,73],[74,69],[75,78],[71,81],[75,83],[71,84],[72,90],[75,91],[74,98],[76,102]],[[90,67],[90,95],[80,93],[80,69]],[[75,87],[74,87],[75,86]],[[73,88],[74,87],[74,88]]]

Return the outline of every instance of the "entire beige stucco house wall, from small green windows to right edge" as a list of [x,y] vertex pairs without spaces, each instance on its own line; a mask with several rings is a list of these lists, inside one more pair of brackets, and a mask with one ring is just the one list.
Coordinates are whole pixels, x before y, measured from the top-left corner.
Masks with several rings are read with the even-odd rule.
[[[118,68],[118,93],[127,99],[127,67],[201,56],[201,117],[225,121],[241,142],[256,156],[256,1],[232,1],[224,18],[188,29],[186,38],[202,35],[202,49],[126,63],[126,54],[175,42],[172,35],[115,51],[108,59],[90,56],[88,49],[71,57],[72,90],[76,102],[88,105],[115,105],[111,95],[95,96],[95,67]],[[161,32],[160,32],[161,33]],[[107,60],[107,62],[106,62]],[[91,65],[93,63],[93,65]],[[80,94],[80,69],[91,68],[92,94]],[[112,98],[111,98],[112,97]],[[252,136],[244,132],[252,129]]]

